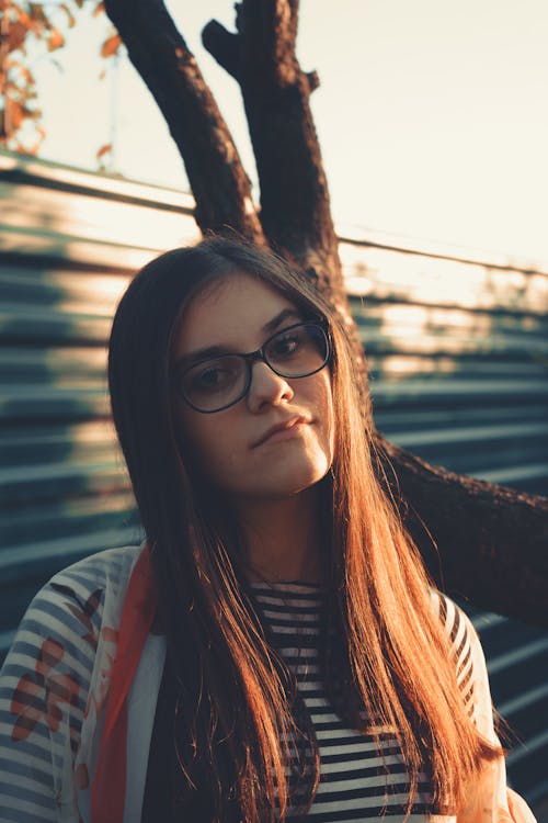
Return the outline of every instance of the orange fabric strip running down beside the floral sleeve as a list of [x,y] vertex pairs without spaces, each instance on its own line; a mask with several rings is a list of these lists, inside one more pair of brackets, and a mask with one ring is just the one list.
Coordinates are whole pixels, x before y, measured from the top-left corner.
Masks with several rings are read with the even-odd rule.
[[127,695],[152,625],[157,593],[148,546],[127,587],[106,700],[91,801],[91,823],[123,823],[126,796]]

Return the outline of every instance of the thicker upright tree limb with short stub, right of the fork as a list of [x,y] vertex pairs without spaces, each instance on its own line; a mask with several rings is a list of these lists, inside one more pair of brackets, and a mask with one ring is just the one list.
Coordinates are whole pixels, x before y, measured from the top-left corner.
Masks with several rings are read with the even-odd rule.
[[[298,2],[238,5],[240,82],[261,184],[261,223],[271,244],[332,285],[341,275],[338,240],[318,138],[310,80],[295,56]],[[209,32],[210,34],[210,32]],[[222,65],[222,42],[206,38]],[[313,83],[312,83],[313,84]],[[310,258],[310,260],[308,259]]]

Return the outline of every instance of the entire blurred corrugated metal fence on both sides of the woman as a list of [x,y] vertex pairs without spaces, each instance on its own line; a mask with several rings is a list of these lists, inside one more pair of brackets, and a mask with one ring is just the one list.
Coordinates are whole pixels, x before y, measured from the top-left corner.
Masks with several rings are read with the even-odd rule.
[[[109,419],[105,342],[130,273],[197,232],[187,195],[8,154],[0,203],[3,656],[48,576],[138,539]],[[547,494],[547,274],[355,238],[341,252],[377,426],[431,462]],[[548,638],[468,610],[499,708],[527,742],[510,756],[512,778],[539,803]]]

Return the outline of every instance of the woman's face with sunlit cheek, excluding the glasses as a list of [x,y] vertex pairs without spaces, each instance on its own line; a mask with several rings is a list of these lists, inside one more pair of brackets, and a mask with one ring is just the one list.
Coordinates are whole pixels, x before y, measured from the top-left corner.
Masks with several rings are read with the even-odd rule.
[[[195,352],[210,347],[226,353],[255,351],[300,319],[274,289],[249,274],[231,274],[186,306],[172,367],[192,364]],[[249,392],[233,406],[202,414],[178,396],[175,416],[187,455],[213,486],[233,499],[295,495],[318,483],[332,463],[329,368],[308,377],[281,377],[255,361]]]

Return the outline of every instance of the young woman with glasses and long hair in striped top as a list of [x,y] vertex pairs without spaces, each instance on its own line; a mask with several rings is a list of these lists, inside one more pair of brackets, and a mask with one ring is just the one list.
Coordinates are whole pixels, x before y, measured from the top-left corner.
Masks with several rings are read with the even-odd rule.
[[163,255],[122,298],[109,379],[146,542],[30,607],[0,819],[533,820],[478,638],[379,486],[344,328],[306,279],[235,241]]

